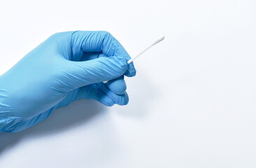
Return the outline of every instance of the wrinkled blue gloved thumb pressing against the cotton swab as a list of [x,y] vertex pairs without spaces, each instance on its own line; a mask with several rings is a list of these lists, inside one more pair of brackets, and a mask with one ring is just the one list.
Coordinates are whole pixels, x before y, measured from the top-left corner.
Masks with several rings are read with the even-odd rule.
[[99,57],[83,62],[69,61],[69,68],[58,80],[65,84],[68,92],[84,85],[118,78],[127,69],[128,64],[124,57]]

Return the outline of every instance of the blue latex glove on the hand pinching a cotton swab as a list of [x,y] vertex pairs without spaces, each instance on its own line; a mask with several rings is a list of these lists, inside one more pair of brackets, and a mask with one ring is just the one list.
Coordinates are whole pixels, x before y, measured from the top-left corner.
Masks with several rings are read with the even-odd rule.
[[77,99],[128,104],[123,75],[136,73],[128,59],[106,31],[53,34],[0,76],[0,132],[25,130]]

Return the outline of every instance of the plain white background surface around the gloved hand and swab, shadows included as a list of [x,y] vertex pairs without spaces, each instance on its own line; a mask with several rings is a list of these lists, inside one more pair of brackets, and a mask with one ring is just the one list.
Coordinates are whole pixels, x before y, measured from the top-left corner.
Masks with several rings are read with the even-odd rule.
[[82,100],[0,133],[0,167],[256,167],[253,0],[1,1],[0,73],[58,31],[140,52],[128,106]]

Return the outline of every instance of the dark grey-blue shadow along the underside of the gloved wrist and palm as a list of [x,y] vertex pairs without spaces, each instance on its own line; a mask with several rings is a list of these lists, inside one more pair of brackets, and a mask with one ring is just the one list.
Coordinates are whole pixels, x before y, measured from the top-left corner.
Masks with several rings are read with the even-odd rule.
[[0,153],[15,146],[22,139],[55,134],[71,129],[93,119],[104,111],[105,107],[93,100],[83,99],[72,102],[69,106],[53,111],[49,118],[27,130],[17,133],[1,132]]

